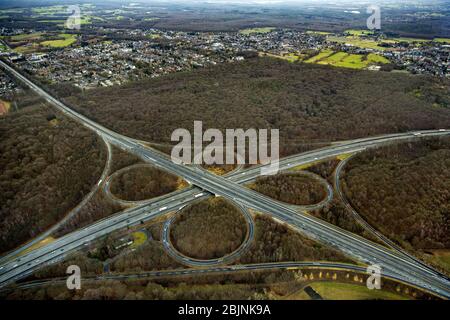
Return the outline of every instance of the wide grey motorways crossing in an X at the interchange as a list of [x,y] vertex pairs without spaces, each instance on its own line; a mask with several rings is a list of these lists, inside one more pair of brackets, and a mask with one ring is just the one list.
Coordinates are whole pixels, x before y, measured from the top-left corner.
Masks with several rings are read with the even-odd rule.
[[[301,233],[340,249],[349,256],[364,263],[381,265],[383,274],[390,274],[404,282],[425,288],[443,297],[450,298],[450,282],[448,279],[443,278],[438,272],[418,264],[413,259],[405,257],[398,252],[391,251],[320,219],[298,213],[289,206],[275,202],[266,196],[240,185],[246,181],[255,179],[260,174],[260,167],[257,166],[245,170],[244,172],[236,173],[228,178],[224,178],[188,166],[176,165],[160,153],[147,148],[133,139],[106,129],[68,108],[5,63],[0,62],[0,65],[30,86],[62,113],[97,132],[111,144],[139,156],[148,163],[177,174],[192,185],[205,190],[200,193],[200,196],[195,193],[198,192],[197,189],[193,188],[189,190],[188,192],[190,193],[194,192],[195,198],[206,198],[210,193],[217,196],[223,196],[255,211],[269,214],[277,220],[287,223]],[[322,148],[302,155],[285,158],[280,161],[280,167],[282,169],[288,169],[300,164],[331,158],[343,153],[361,151],[369,147],[379,146],[380,144],[409,140],[417,138],[417,134],[418,133],[409,132],[343,142],[328,148]],[[420,137],[449,134],[450,131],[448,130],[429,130],[420,132]],[[87,242],[114,230],[139,223],[143,218],[155,218],[162,214],[176,211],[180,206],[182,207],[185,204],[185,202],[183,202],[183,196],[187,194],[180,194],[173,198],[158,201],[156,204],[153,203],[152,205],[133,208],[120,215],[114,215],[108,219],[101,220],[88,228],[62,237],[48,246],[34,250],[20,259],[9,261],[0,267],[0,286],[7,285],[8,283],[14,282],[17,279],[30,274],[42,264],[56,262],[62,259],[67,252],[82,247]],[[192,200],[192,198],[190,200]],[[157,205],[157,207],[155,207],[155,205]]]

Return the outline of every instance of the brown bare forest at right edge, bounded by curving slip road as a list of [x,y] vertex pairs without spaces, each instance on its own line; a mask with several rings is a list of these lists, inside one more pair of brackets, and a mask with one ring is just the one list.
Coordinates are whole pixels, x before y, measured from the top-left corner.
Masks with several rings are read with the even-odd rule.
[[450,248],[450,139],[424,139],[352,158],[342,176],[352,206],[406,248]]

